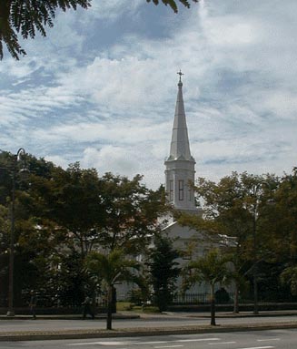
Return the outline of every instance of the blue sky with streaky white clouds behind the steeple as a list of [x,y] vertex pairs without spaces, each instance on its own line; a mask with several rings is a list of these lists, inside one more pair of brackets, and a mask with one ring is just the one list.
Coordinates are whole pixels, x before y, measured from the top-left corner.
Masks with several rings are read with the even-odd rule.
[[178,76],[196,177],[297,166],[296,0],[145,0],[59,12],[27,56],[0,61],[0,149],[79,161],[157,189]]

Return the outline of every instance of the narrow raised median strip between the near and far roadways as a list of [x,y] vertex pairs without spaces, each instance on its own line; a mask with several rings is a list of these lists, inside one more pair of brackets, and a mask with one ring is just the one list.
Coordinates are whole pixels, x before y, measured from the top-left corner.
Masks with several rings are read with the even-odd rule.
[[112,338],[112,337],[135,337],[135,336],[153,336],[169,334],[212,334],[226,332],[247,332],[264,331],[273,329],[292,329],[297,328],[297,322],[292,323],[262,323],[262,324],[243,324],[243,325],[204,325],[204,326],[186,326],[172,328],[150,328],[150,329],[121,329],[121,330],[68,330],[54,332],[27,332],[27,333],[4,333],[0,334],[0,342],[18,342],[18,341],[40,341],[57,339],[86,339],[86,338]]

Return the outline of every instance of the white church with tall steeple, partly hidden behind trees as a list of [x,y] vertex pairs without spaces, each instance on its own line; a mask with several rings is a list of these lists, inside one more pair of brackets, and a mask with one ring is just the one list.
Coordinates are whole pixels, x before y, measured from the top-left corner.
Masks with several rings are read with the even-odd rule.
[[[173,121],[173,133],[170,145],[169,157],[165,160],[165,191],[167,200],[175,210],[201,216],[203,210],[195,205],[193,186],[195,181],[195,159],[191,154],[188,129],[183,105],[183,82],[180,71],[178,91]],[[205,239],[203,231],[195,231],[189,227],[181,226],[173,217],[166,217],[167,225],[163,232],[173,239],[173,246],[179,251],[186,251],[187,246],[196,241],[192,257],[203,256],[205,251],[213,248],[213,241]],[[227,237],[225,237],[227,238]],[[228,238],[227,238],[228,239]],[[218,242],[215,242],[218,246]],[[181,265],[188,262],[180,258],[177,262]],[[176,282],[177,293],[181,291],[182,278]],[[128,286],[131,290],[132,285]],[[123,285],[117,285],[117,299],[124,300],[128,289]],[[133,286],[132,286],[133,287]],[[218,285],[219,287],[219,285]],[[188,293],[209,293],[209,286],[205,284],[194,285]]]

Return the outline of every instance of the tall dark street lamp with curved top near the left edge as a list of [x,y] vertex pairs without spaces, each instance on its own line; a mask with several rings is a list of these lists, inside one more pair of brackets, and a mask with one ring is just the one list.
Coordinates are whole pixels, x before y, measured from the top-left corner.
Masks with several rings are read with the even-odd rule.
[[14,311],[14,263],[15,263],[15,178],[16,174],[25,174],[28,172],[28,169],[25,169],[23,166],[22,169],[17,170],[17,162],[21,157],[25,156],[25,149],[20,148],[17,150],[17,153],[14,155],[14,162],[12,167],[12,204],[11,204],[11,231],[10,231],[10,244],[9,244],[9,272],[8,272],[8,311],[7,316],[15,316]]

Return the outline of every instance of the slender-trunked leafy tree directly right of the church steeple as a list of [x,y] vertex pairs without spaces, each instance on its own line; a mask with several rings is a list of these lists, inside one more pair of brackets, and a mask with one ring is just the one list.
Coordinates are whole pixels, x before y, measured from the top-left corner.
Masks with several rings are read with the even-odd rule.
[[[245,174],[244,174],[245,176]],[[241,175],[233,172],[218,183],[199,179],[196,187],[204,200],[205,219],[213,225],[213,232],[221,242],[223,252],[233,262],[234,313],[239,312],[239,291],[244,284],[247,253],[246,241],[252,230],[249,210],[246,210],[246,189]],[[211,222],[211,223],[210,223]],[[227,237],[224,239],[224,235]],[[233,237],[235,240],[230,240]]]

